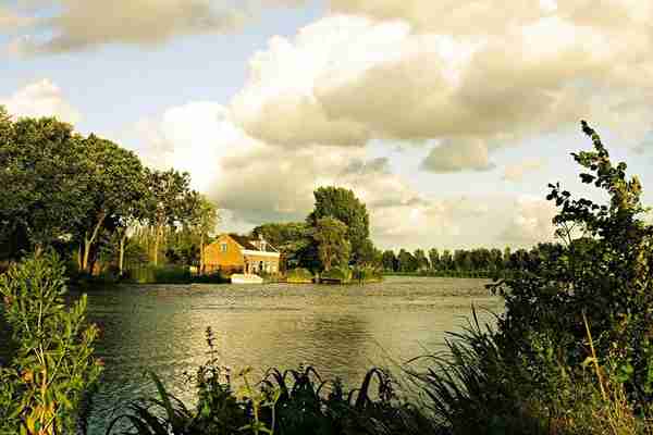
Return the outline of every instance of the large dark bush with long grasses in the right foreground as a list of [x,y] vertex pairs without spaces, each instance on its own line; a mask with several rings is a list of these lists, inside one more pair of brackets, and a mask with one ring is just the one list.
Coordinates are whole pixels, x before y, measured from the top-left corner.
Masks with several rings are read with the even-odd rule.
[[637,177],[582,127],[580,177],[609,203],[550,185],[564,244],[491,286],[506,301],[496,331],[472,323],[414,373],[453,434],[653,433],[653,227]]

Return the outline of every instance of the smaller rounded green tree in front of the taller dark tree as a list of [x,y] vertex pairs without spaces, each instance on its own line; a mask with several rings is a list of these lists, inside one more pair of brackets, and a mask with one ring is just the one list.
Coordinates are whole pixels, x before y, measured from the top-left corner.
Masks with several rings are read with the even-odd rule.
[[313,237],[318,243],[318,254],[325,271],[333,265],[346,265],[352,247],[346,239],[347,226],[337,219],[328,216],[317,221]]

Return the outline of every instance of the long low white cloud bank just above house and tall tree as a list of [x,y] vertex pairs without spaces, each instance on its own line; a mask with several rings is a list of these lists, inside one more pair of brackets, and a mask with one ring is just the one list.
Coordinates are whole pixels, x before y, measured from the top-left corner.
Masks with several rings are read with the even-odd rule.
[[372,237],[383,248],[504,246],[501,229],[512,224],[517,207],[506,196],[428,198],[394,174],[386,158],[369,158],[362,147],[266,144],[211,102],[172,108],[132,133],[144,145],[146,162],[190,172],[194,187],[223,210],[222,231],[303,220],[315,188],[336,185],[366,202]]

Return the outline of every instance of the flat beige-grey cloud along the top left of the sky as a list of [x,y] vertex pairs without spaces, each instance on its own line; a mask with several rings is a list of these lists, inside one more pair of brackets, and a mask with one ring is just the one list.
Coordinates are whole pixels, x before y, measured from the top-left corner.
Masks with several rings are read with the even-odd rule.
[[251,21],[266,5],[288,5],[286,0],[23,0],[23,3],[34,12],[35,29],[46,29],[52,35],[16,41],[16,49],[33,54],[76,51],[106,44],[158,45],[178,36],[229,33]]

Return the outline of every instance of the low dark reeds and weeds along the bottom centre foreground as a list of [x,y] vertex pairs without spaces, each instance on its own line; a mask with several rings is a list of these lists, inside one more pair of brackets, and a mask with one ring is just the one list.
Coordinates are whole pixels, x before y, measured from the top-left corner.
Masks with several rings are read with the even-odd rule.
[[[250,371],[232,380],[221,368],[208,330],[210,360],[188,376],[197,405],[189,409],[168,393],[151,374],[158,397],[134,402],[111,424],[108,434],[423,434],[433,433],[431,420],[401,402],[392,378],[372,370],[360,388],[345,391],[342,384],[323,382],[312,368],[268,371],[252,385]],[[239,387],[236,385],[239,384]],[[373,386],[378,389],[372,394]],[[120,424],[126,428],[118,428]]]

